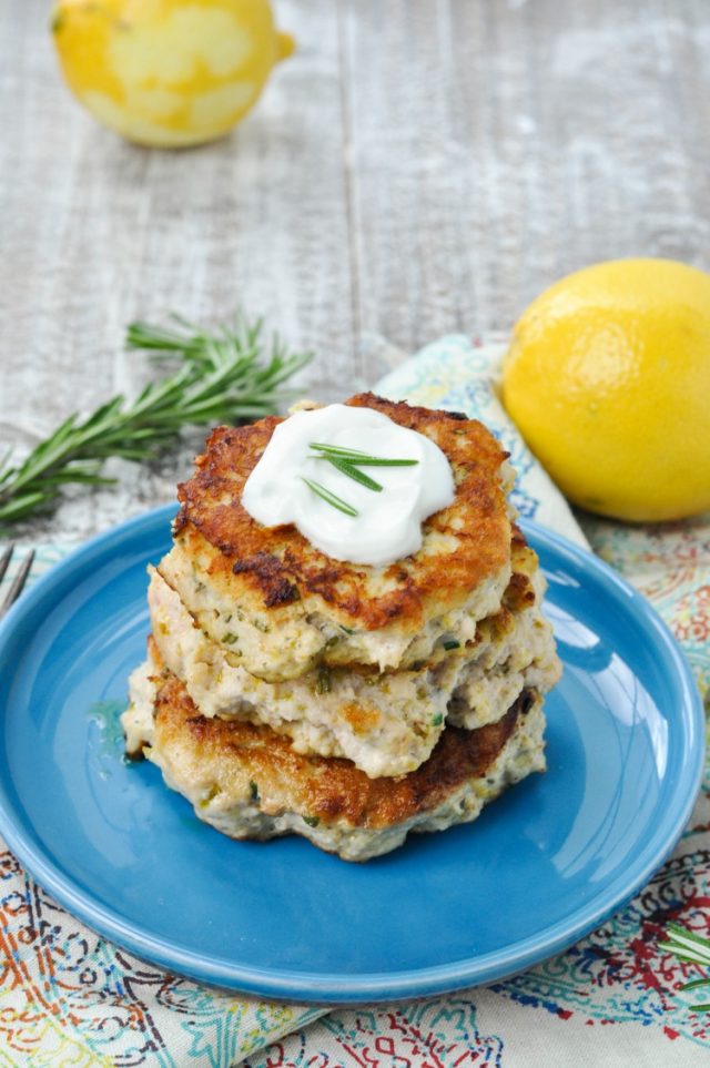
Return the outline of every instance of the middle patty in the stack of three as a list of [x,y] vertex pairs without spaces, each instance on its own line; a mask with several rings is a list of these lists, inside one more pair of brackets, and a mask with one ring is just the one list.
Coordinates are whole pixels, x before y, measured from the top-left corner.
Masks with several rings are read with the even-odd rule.
[[206,716],[235,716],[286,734],[301,753],[345,756],[372,777],[407,774],[430,755],[446,723],[475,729],[500,718],[526,686],[558,679],[559,661],[541,613],[537,558],[519,533],[499,611],[475,640],[453,642],[418,670],[313,669],[267,682],[207,638],[161,574],[151,573],[155,643],[170,671]]

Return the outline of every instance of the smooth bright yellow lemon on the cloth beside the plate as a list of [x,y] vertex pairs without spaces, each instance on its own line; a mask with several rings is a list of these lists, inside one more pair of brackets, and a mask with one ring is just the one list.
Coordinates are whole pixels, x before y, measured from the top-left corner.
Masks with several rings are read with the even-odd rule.
[[582,508],[638,521],[710,508],[710,275],[618,260],[562,278],[517,323],[503,397]]

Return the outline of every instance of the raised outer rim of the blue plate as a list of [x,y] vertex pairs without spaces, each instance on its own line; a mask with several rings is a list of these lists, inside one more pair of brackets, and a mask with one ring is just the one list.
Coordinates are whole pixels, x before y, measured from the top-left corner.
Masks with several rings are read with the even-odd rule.
[[[71,574],[77,569],[83,569],[88,560],[103,552],[106,546],[113,542],[120,543],[126,536],[134,537],[144,529],[152,530],[163,521],[168,525],[175,510],[176,506],[169,504],[134,516],[79,546],[40,576],[0,622],[0,658],[4,653],[6,644],[12,638],[16,625],[31,614],[37,601],[44,597],[45,591],[51,589],[58,579],[67,573]],[[704,771],[704,714],[700,691],[679,643],[642,594],[604,560],[556,531],[525,519],[520,520],[520,526],[540,546],[551,548],[562,559],[571,559],[575,564],[585,570],[591,569],[602,580],[604,586],[611,587],[617,593],[623,594],[635,617],[641,617],[647,624],[650,624],[657,643],[665,649],[668,662],[676,670],[674,683],[682,695],[677,714],[686,723],[686,734],[692,741],[694,733],[697,742],[694,753],[690,746],[686,751],[687,760],[692,757],[690,763],[691,767],[694,765],[694,773],[679,780],[674,786],[676,814],[670,821],[670,828],[663,833],[662,841],[657,841],[658,832],[647,841],[637,861],[630,865],[631,874],[623,885],[613,894],[609,892],[602,894],[595,908],[582,905],[574,909],[565,919],[547,925],[527,938],[504,948],[443,965],[354,975],[347,973],[313,975],[304,970],[285,968],[264,969],[239,965],[233,959],[204,957],[145,932],[135,922],[123,920],[114,909],[106,907],[104,902],[98,899],[85,887],[77,886],[69,876],[59,871],[43,850],[36,848],[31,841],[31,825],[26,827],[20,813],[17,814],[20,818],[13,817],[12,799],[8,795],[3,782],[0,782],[0,835],[28,874],[72,916],[85,923],[102,937],[169,972],[247,995],[274,997],[302,1004],[331,1005],[432,997],[503,979],[568,948],[622,908],[648,883],[678,843],[690,818]],[[663,822],[659,823],[659,827],[665,826],[666,823],[668,823],[667,815]],[[642,866],[639,867],[641,861]]]

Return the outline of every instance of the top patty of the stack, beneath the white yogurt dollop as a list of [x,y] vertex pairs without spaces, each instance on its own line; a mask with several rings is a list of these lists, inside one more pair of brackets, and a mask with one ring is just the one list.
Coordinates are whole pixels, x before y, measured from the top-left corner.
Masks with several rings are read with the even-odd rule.
[[333,560],[294,526],[252,519],[241,495],[276,417],[217,427],[179,487],[175,548],[161,572],[203,629],[263,678],[293,678],[318,660],[408,665],[462,613],[475,623],[495,611],[510,577],[507,454],[483,424],[372,394],[347,404],[426,435],[452,465],[456,499],[425,521],[420,550],[404,560]]

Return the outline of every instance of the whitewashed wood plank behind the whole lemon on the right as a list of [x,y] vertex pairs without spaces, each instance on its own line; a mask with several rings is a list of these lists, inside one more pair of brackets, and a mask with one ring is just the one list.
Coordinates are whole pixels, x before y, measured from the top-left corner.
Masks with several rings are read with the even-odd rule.
[[349,0],[358,318],[508,328],[616,256],[710,266],[710,8]]

